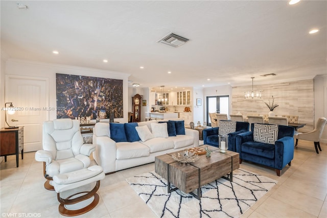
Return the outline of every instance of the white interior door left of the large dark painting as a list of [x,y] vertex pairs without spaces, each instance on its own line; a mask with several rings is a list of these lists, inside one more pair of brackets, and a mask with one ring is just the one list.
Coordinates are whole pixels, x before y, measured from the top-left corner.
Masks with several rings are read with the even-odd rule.
[[6,102],[16,109],[7,122],[24,126],[24,152],[42,149],[42,124],[49,119],[48,87],[48,78],[6,76]]

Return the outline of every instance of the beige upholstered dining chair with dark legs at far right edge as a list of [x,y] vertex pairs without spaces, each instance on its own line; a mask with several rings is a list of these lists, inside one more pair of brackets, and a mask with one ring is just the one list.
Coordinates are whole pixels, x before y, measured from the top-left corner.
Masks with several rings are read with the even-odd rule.
[[320,138],[323,132],[323,128],[325,127],[327,122],[327,119],[324,117],[321,117],[318,119],[318,123],[315,127],[315,129],[313,129],[311,132],[308,133],[297,133],[296,135],[294,135],[294,138],[296,139],[296,143],[295,146],[297,146],[297,141],[299,139],[301,140],[306,140],[306,141],[312,141],[315,145],[315,149],[317,154],[319,154],[318,148],[321,151],[321,147],[320,147]]

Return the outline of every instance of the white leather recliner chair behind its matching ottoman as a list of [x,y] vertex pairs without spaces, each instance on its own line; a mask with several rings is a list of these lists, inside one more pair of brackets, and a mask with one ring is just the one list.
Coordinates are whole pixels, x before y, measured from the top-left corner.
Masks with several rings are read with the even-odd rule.
[[43,150],[35,153],[35,160],[43,162],[43,173],[47,180],[44,187],[54,190],[53,177],[90,165],[89,156],[96,146],[84,144],[79,120],[55,119],[43,123]]

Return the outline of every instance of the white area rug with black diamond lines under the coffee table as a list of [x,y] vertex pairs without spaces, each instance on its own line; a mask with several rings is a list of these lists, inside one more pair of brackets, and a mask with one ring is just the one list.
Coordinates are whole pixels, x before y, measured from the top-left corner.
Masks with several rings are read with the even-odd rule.
[[220,178],[202,186],[199,201],[180,190],[168,193],[167,180],[154,171],[126,181],[158,217],[239,217],[277,183],[237,169],[233,171],[233,182]]

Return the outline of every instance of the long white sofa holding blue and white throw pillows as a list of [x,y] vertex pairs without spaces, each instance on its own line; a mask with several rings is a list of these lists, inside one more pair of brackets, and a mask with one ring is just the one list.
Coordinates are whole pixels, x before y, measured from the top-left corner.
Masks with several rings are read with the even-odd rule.
[[[156,156],[183,150],[185,148],[197,147],[199,145],[199,132],[194,129],[184,128],[184,126],[183,128],[185,135],[169,136],[168,138],[158,136],[158,128],[156,127],[158,125],[154,123],[167,121],[168,120],[151,120],[132,124],[143,126],[141,128],[146,128],[145,126],[147,126],[154,137],[146,141],[138,140],[133,142],[115,142],[113,139],[111,139],[114,138],[112,134],[115,132],[117,134],[122,132],[117,132],[118,124],[101,122],[97,123],[93,131],[93,144],[96,145],[96,150],[93,152],[95,161],[98,165],[102,166],[105,173],[110,173],[142,164],[151,163],[154,162],[154,158]],[[130,124],[125,123],[124,125]],[[166,128],[167,125],[168,123],[166,123]],[[114,126],[116,129],[110,130],[110,126],[111,128]],[[154,128],[156,129],[152,129],[151,126],[155,126]],[[136,127],[136,129],[141,128]],[[128,130],[128,132],[131,131]],[[161,133],[159,133],[159,135],[160,134]],[[167,133],[162,134],[165,136]]]

